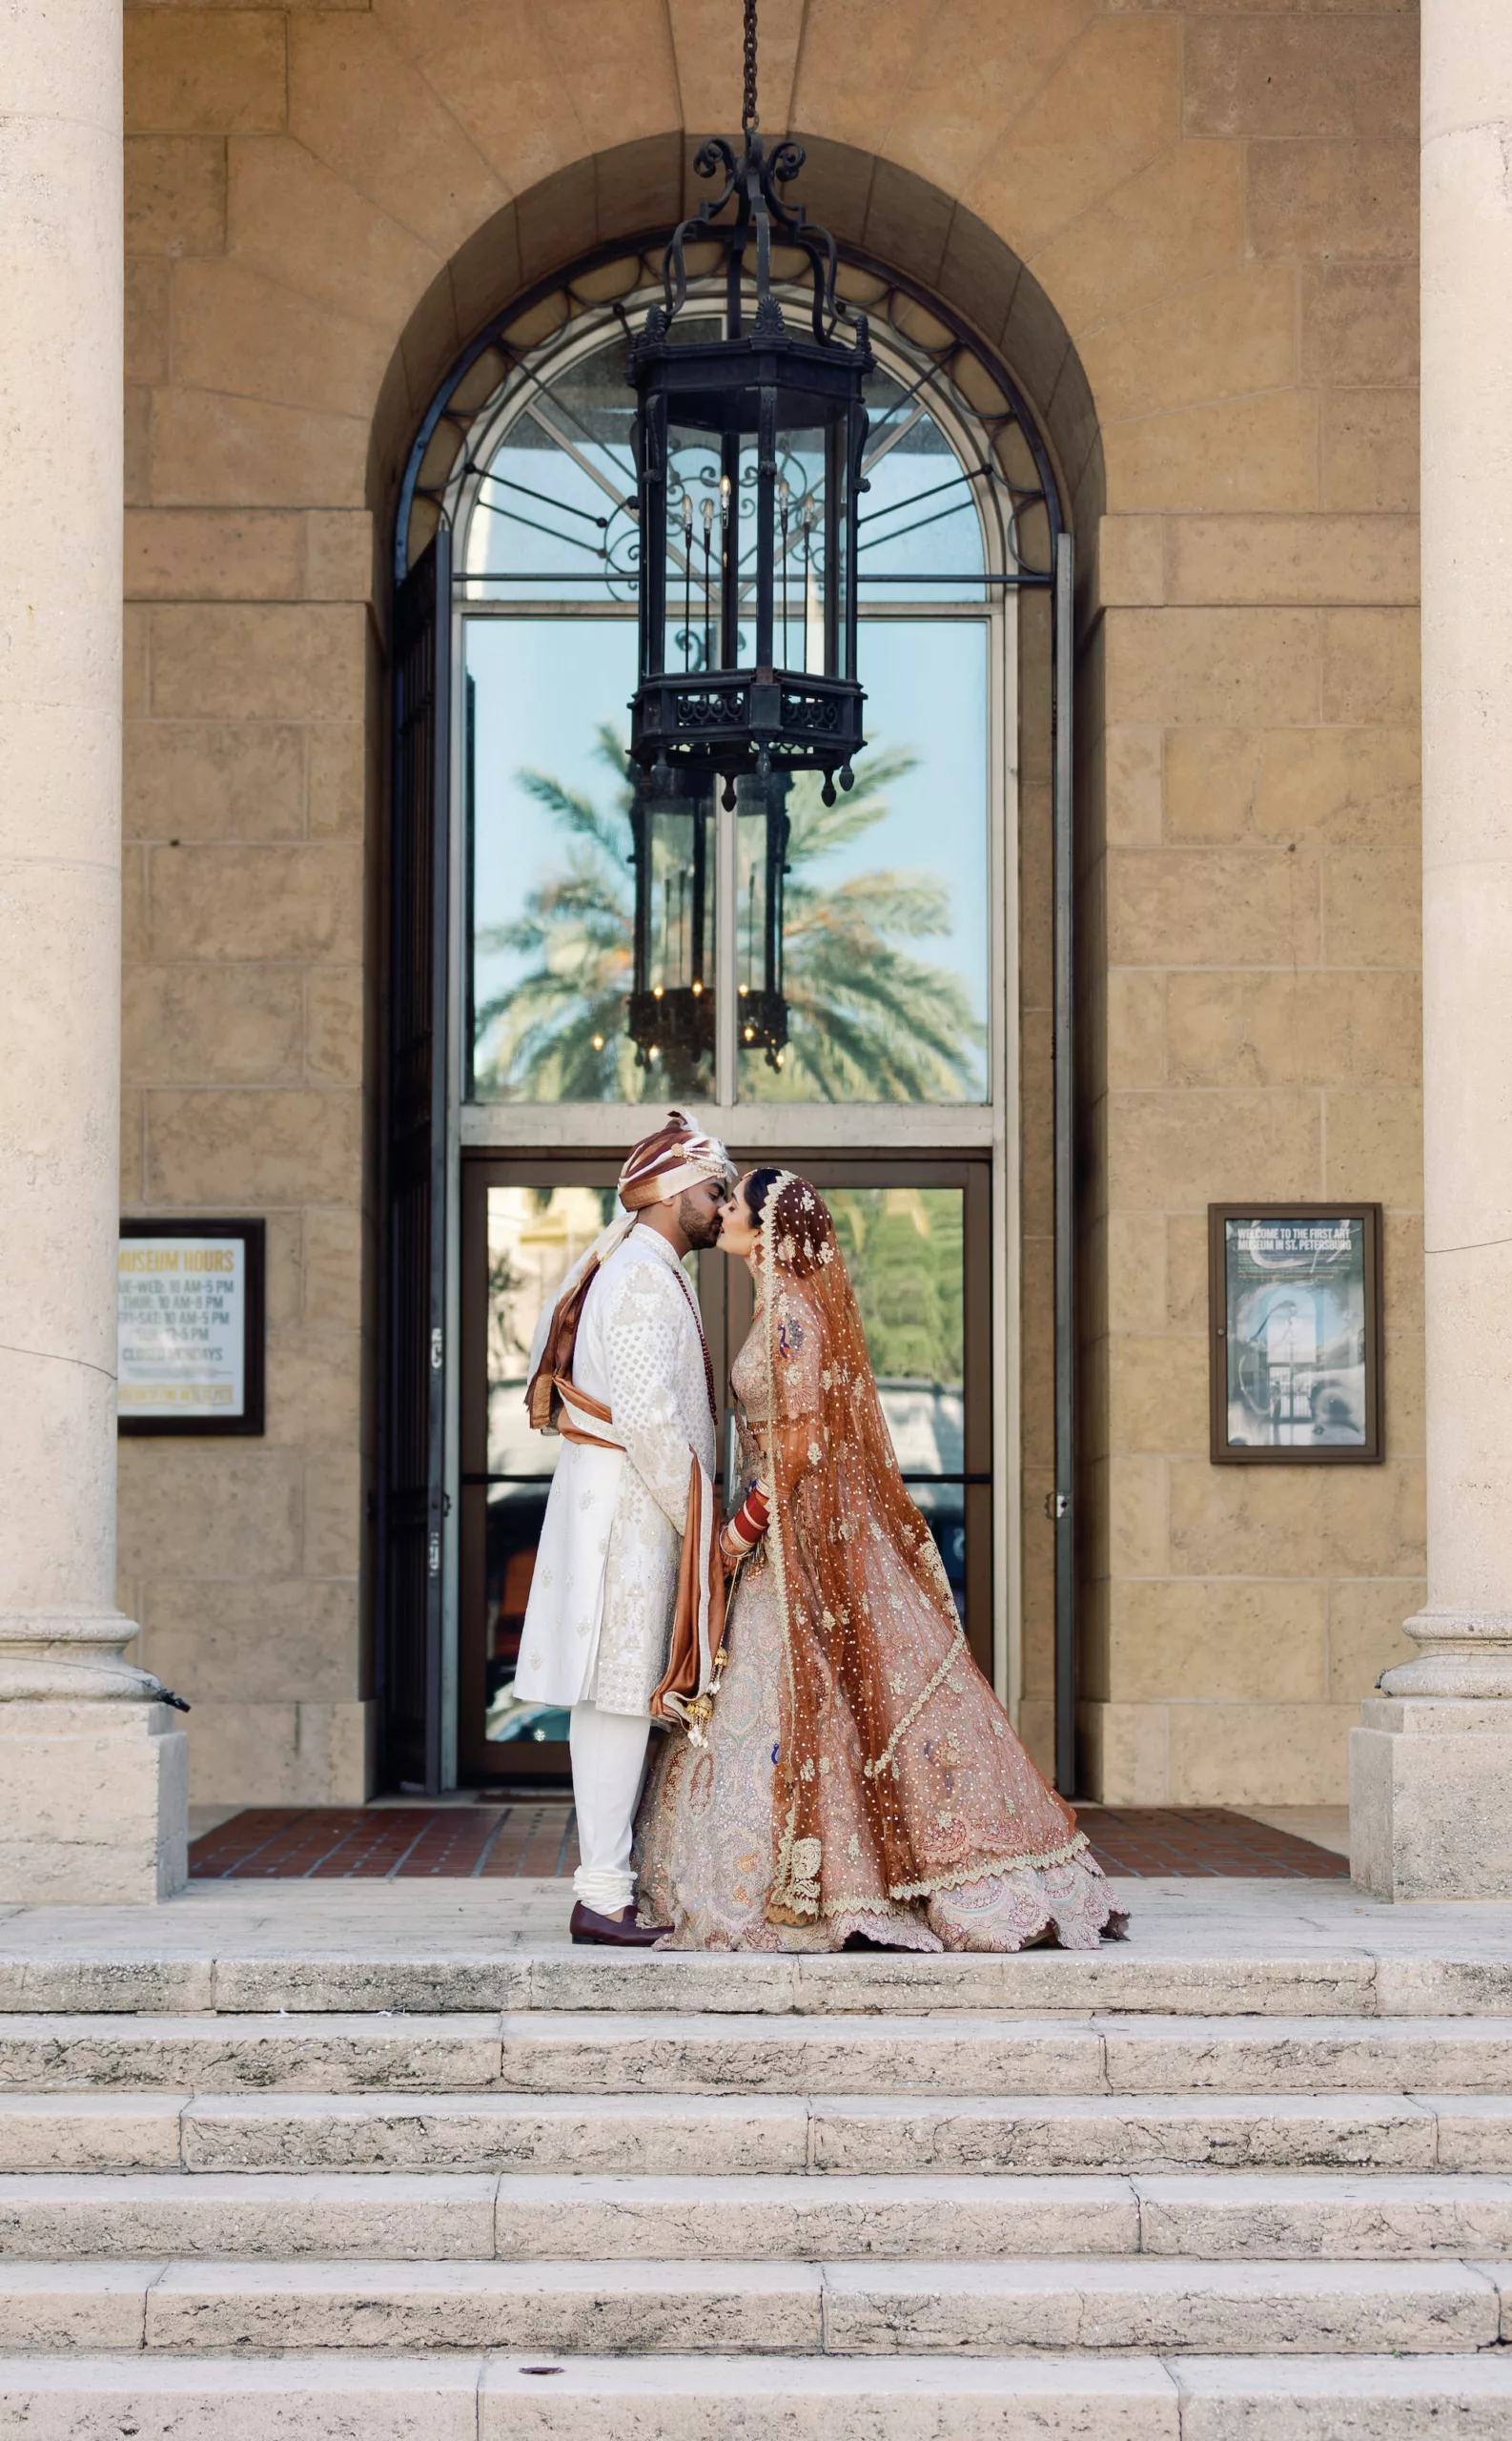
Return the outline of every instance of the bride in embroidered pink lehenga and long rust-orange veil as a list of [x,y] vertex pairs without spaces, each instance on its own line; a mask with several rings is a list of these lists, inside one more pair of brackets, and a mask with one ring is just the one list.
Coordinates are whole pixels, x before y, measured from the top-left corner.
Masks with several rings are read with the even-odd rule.
[[754,1169],[719,1245],[756,1279],[734,1360],[754,1477],[722,1533],[717,1696],[639,1809],[639,1911],[666,1948],[1022,1950],[1117,1938],[1085,1833],[971,1660],[893,1457],[815,1186]]

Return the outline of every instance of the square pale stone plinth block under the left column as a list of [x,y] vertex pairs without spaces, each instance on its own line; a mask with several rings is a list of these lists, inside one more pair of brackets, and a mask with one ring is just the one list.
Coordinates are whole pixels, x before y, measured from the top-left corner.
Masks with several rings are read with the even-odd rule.
[[151,1906],[188,1880],[188,1738],[166,1704],[0,1704],[0,1902]]

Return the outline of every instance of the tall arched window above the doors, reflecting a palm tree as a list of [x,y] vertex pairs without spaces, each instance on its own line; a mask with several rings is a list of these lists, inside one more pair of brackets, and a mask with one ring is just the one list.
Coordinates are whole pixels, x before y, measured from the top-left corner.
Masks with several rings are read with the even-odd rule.
[[[778,1055],[736,1028],[734,1094],[707,1042],[637,1045],[641,925],[651,991],[734,993],[763,969],[763,823],[658,823],[634,869],[627,701],[637,681],[632,334],[644,259],[563,286],[483,349],[405,500],[410,549],[454,527],[463,691],[463,1094],[473,1103],[990,1103],[1012,796],[1015,586],[1049,574],[1044,464],[993,369],[880,273],[846,266],[873,315],[878,378],[861,520],[866,752],[824,806],[788,798]],[[678,322],[717,327],[712,283]],[[805,320],[800,290],[783,295]],[[434,481],[427,488],[427,469]],[[676,647],[705,666],[719,469],[673,466]],[[815,469],[783,464],[785,666],[807,666],[822,525]],[[744,486],[741,486],[744,491]],[[744,537],[741,537],[744,552]],[[710,566],[710,559],[715,561]],[[754,557],[754,554],[751,554]],[[754,569],[751,569],[754,574]],[[815,640],[817,652],[817,640]],[[724,893],[724,925],[715,903]],[[715,937],[724,957],[715,957]],[[771,959],[771,942],[768,942]],[[736,1008],[739,1015],[739,1008]],[[710,1030],[712,1040],[712,1030]]]

